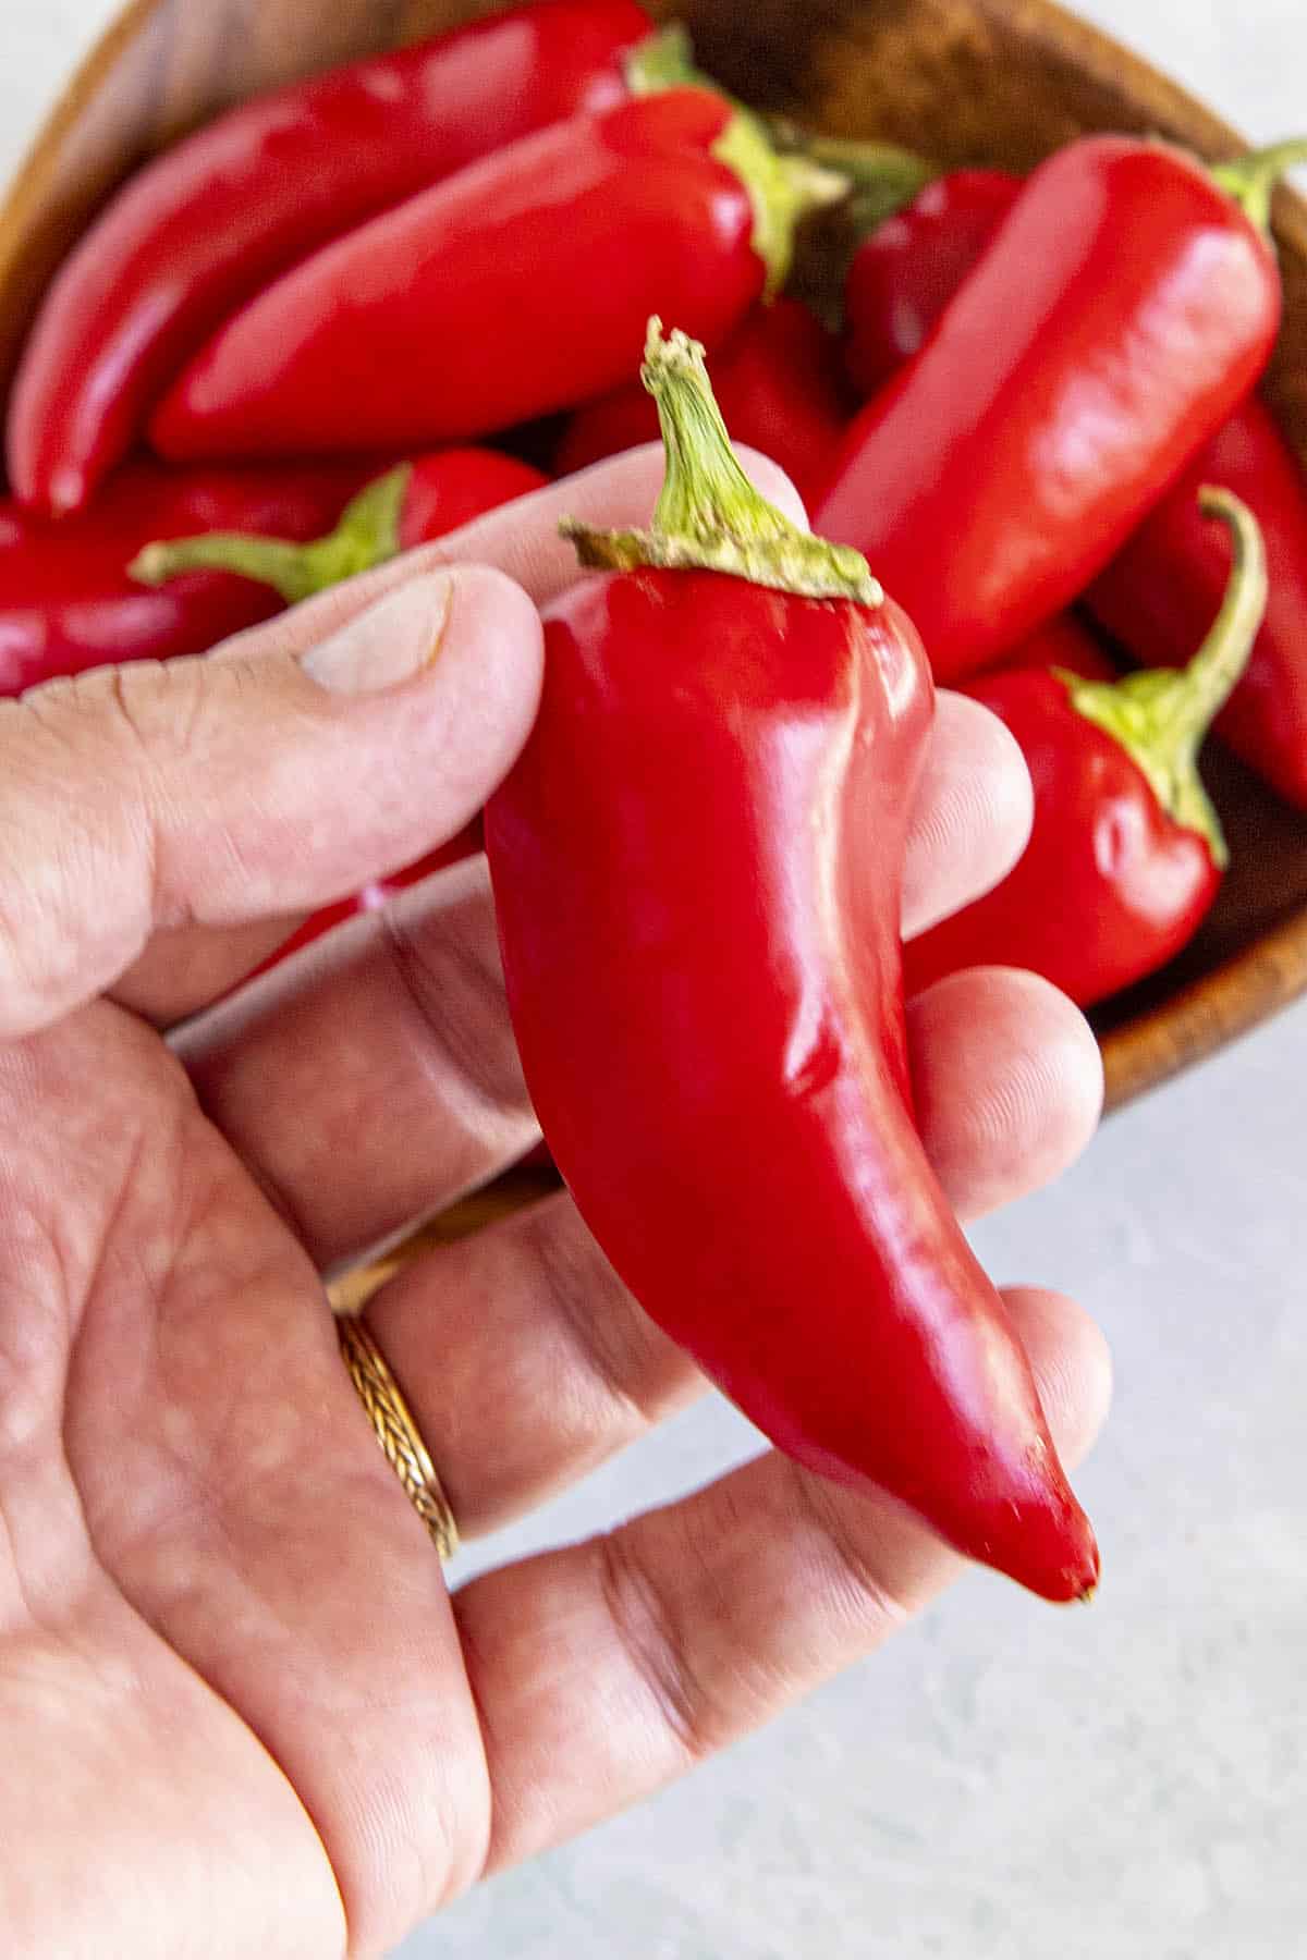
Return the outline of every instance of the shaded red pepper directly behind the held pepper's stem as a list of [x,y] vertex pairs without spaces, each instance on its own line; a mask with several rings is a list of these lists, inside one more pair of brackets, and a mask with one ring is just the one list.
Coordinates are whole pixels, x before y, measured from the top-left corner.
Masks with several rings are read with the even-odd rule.
[[[801,498],[831,474],[848,425],[831,333],[799,300],[776,300],[749,316],[713,367],[721,414],[737,443],[780,463]],[[572,417],[557,470],[570,476],[658,437],[658,410],[639,382],[592,402]]]

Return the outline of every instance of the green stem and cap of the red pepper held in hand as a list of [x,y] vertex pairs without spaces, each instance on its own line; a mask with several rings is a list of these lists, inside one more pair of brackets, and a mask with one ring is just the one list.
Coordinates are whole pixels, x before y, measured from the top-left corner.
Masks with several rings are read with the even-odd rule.
[[564,519],[582,564],[629,572],[707,570],[805,598],[880,606],[866,559],[799,529],[754,490],[731,449],[703,349],[684,333],[662,339],[649,321],[641,380],[658,404],[666,478],[649,531],[592,531]]

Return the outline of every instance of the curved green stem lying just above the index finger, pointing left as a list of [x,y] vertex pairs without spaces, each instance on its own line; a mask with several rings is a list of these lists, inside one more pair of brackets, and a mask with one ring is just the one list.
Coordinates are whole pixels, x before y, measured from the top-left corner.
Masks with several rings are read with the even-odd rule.
[[292,545],[284,537],[251,531],[208,531],[147,545],[127,566],[141,586],[163,586],[182,572],[235,572],[261,586],[272,586],[288,606],[339,586],[343,578],[370,572],[400,551],[400,519],[413,470],[404,463],[378,476],[353,504],[339,525],[312,545]]

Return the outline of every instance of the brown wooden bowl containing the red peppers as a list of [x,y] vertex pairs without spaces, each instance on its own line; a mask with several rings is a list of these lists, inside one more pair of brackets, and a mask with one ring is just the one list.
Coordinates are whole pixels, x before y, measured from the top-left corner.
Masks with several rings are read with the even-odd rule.
[[[51,272],[143,157],[259,88],[396,47],[494,0],[135,0],[82,65],[0,210],[0,396]],[[1086,129],[1217,159],[1248,145],[1050,0],[686,0],[703,67],[760,108],[943,163],[1029,169]],[[1285,327],[1268,398],[1307,461],[1307,206],[1280,194]],[[1229,757],[1233,868],[1189,951],[1099,1015],[1109,1103],[1201,1060],[1307,990],[1307,821]]]

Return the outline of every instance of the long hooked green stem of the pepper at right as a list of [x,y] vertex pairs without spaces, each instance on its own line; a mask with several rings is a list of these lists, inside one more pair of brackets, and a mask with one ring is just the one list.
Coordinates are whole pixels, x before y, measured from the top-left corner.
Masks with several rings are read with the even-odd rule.
[[1150,666],[1123,680],[1084,680],[1060,670],[1058,678],[1072,708],[1121,743],[1162,809],[1205,837],[1223,868],[1229,849],[1197,772],[1197,753],[1248,666],[1266,617],[1266,545],[1252,512],[1229,490],[1203,488],[1197,502],[1205,517],[1229,527],[1234,557],[1221,612],[1189,664],[1178,672]]

